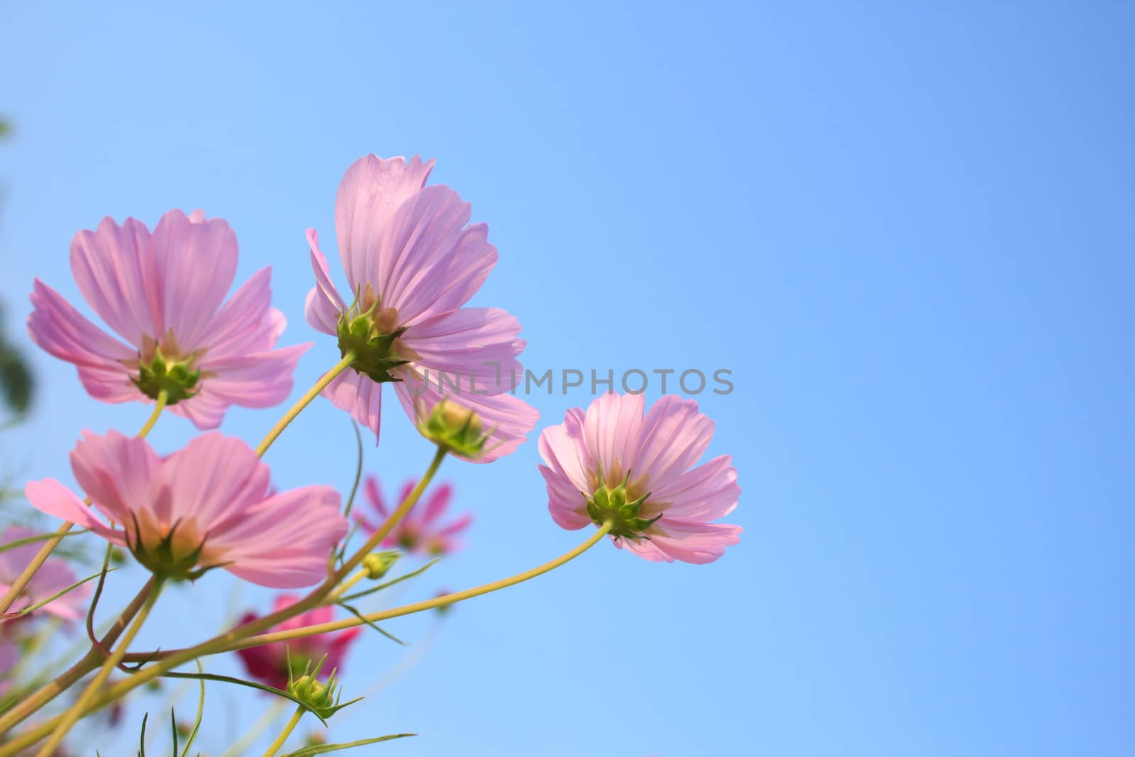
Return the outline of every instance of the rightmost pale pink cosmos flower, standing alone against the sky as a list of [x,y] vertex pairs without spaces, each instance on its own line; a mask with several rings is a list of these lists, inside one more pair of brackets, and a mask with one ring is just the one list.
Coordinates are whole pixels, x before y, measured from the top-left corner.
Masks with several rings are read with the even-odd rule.
[[540,434],[548,510],[565,529],[614,522],[609,533],[655,562],[712,563],[737,544],[731,513],[741,488],[729,455],[700,460],[713,421],[692,399],[662,397],[646,418],[640,394],[606,394]]

